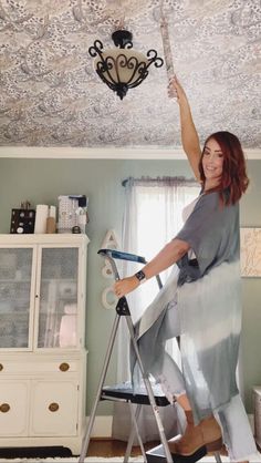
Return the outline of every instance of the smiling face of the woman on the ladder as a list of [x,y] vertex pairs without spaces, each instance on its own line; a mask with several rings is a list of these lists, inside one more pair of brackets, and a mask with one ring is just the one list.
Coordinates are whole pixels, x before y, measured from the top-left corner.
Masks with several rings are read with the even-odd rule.
[[223,153],[215,138],[210,138],[205,146],[202,167],[206,181],[218,181],[223,169]]

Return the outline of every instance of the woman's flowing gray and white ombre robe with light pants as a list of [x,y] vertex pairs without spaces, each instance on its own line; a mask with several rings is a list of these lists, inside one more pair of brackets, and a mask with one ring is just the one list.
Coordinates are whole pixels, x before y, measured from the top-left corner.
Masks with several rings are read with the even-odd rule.
[[[230,459],[243,460],[257,447],[236,381],[241,331],[239,205],[221,206],[217,192],[200,195],[175,238],[191,249],[136,325],[143,363],[168,398],[188,394],[196,423],[213,413]],[[182,371],[165,351],[166,340],[175,336],[180,336]],[[133,354],[130,364],[135,383]]]

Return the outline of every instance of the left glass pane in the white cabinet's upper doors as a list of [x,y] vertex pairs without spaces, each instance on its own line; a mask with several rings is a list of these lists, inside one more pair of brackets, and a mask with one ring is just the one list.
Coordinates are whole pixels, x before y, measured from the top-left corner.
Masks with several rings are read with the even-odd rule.
[[28,348],[33,248],[0,248],[0,348]]

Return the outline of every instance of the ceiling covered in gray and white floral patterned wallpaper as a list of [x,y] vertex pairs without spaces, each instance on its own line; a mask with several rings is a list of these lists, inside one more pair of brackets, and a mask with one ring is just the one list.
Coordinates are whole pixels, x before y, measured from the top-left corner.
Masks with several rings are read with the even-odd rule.
[[88,54],[123,22],[164,58],[163,12],[201,140],[229,130],[261,147],[260,0],[0,0],[0,145],[179,146],[166,66],[121,101]]

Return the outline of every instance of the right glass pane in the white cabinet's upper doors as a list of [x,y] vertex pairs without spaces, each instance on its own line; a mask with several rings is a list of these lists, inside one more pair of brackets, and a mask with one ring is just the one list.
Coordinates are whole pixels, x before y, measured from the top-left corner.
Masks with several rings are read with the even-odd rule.
[[79,248],[42,248],[39,348],[77,347]]

